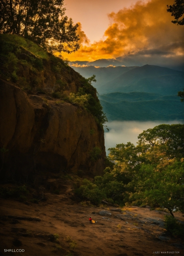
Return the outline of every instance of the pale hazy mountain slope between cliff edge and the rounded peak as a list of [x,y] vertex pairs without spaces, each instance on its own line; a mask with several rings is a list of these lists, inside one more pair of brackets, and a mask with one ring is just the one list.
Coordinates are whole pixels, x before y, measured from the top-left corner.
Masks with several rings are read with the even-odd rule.
[[119,77],[119,75],[131,70],[134,67],[107,67],[107,68],[95,68],[94,66],[88,66],[84,68],[72,67],[75,71],[80,73],[83,77],[91,77],[93,74],[96,75],[96,83],[93,83],[93,86],[97,88],[103,84]]

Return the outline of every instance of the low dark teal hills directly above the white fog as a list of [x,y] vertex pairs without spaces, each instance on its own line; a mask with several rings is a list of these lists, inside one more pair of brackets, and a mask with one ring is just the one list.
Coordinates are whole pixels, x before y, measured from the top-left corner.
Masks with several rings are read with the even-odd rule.
[[109,121],[183,119],[183,104],[177,95],[115,92],[99,95],[99,99]]

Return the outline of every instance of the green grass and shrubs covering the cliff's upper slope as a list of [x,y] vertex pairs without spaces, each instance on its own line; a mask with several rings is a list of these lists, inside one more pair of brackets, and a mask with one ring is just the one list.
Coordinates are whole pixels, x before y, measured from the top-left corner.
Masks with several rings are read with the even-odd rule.
[[[60,58],[16,35],[0,35],[0,60],[0,77],[28,94],[46,94],[77,104],[90,112],[101,128],[107,121],[91,85],[95,76],[82,77]],[[72,93],[73,84],[76,93]]]

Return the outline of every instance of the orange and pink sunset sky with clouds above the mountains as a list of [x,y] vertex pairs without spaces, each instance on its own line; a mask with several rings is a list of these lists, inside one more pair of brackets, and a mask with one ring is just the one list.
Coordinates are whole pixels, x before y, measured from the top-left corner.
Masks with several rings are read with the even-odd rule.
[[173,0],[65,0],[66,15],[79,24],[80,49],[70,61],[133,56],[183,61],[183,26],[166,11]]

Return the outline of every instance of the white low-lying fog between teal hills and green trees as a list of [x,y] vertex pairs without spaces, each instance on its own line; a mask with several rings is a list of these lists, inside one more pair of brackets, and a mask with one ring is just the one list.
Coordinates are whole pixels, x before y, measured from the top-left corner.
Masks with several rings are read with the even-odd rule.
[[138,141],[137,136],[149,128],[153,128],[160,124],[181,124],[183,121],[112,121],[106,125],[109,131],[105,129],[105,148],[107,155],[108,148],[113,148],[116,144],[127,143],[128,141],[134,143]]

